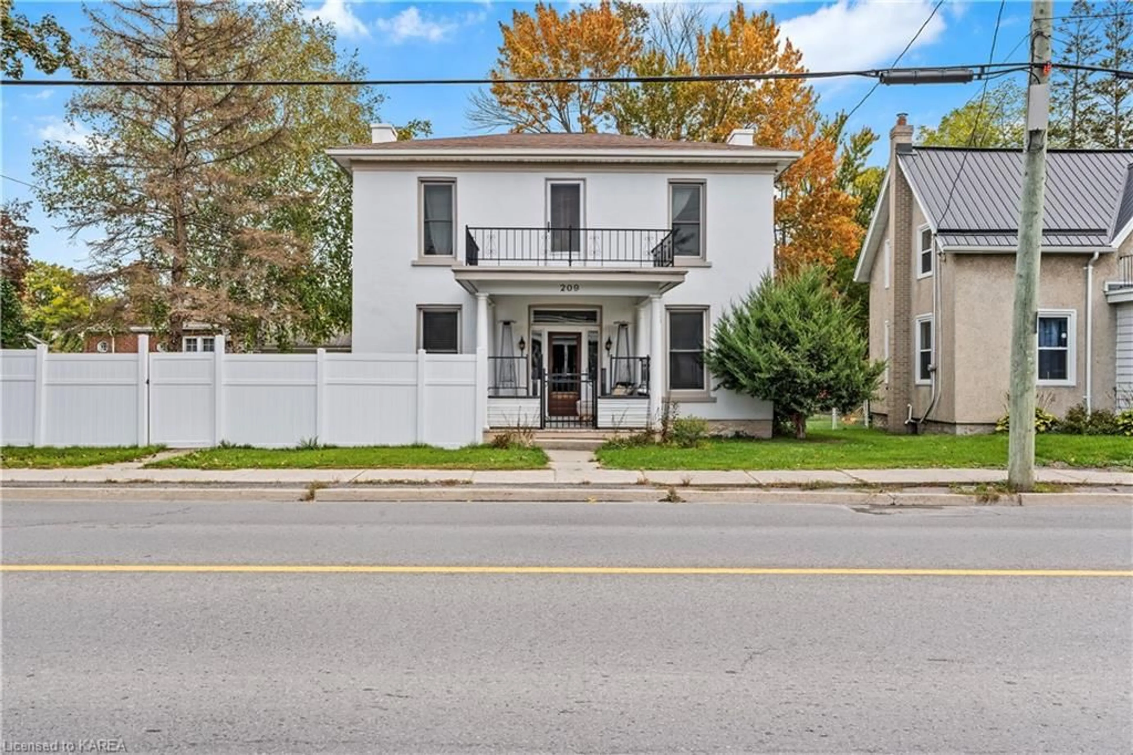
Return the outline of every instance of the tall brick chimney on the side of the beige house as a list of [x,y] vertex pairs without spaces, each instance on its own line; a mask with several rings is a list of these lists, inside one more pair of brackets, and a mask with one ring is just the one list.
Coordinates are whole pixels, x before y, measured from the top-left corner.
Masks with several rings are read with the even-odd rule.
[[893,249],[893,326],[889,329],[888,431],[906,433],[913,399],[913,190],[897,168],[897,155],[912,151],[909,114],[897,113],[889,129],[889,228]]

